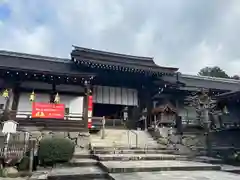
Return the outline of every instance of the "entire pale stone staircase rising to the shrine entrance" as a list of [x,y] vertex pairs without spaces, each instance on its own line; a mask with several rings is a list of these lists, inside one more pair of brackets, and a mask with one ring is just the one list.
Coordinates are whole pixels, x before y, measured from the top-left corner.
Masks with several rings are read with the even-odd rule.
[[71,162],[52,169],[45,179],[239,179],[238,175],[221,171],[219,164],[205,163],[204,158],[200,162],[174,154],[175,151],[159,145],[148,132],[133,131],[129,135],[128,130],[108,129],[105,133],[104,139],[101,133],[91,135],[90,154],[79,149]]

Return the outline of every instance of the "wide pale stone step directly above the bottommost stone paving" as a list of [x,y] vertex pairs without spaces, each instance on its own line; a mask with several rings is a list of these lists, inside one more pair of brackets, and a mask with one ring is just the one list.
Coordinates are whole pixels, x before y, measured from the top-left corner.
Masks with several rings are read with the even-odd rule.
[[100,167],[108,173],[132,173],[153,171],[210,171],[221,166],[192,161],[102,161]]

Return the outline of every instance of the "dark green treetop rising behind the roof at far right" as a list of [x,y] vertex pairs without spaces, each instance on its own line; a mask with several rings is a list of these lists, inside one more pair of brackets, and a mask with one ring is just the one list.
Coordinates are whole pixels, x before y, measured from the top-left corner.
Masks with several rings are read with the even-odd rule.
[[198,75],[210,76],[210,77],[220,77],[220,78],[230,78],[227,75],[227,73],[218,66],[202,68],[199,71]]

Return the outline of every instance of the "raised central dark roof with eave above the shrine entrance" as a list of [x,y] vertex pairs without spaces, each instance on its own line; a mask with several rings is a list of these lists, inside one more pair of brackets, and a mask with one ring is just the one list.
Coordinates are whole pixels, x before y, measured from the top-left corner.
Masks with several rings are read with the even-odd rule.
[[110,53],[74,46],[72,61],[79,66],[120,72],[140,73],[148,76],[173,75],[178,68],[161,67],[153,58]]

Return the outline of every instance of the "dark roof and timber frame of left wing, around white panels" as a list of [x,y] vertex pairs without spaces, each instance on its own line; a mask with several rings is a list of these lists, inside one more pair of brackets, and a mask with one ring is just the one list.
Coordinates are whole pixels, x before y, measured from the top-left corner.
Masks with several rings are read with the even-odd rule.
[[[52,94],[56,91],[56,85],[81,85],[85,88],[85,104],[87,106],[87,96],[89,84],[95,77],[94,73],[80,72],[78,68],[66,59],[57,59],[44,56],[35,56],[14,52],[0,52],[0,78],[1,89],[9,89],[9,96],[13,96],[12,107],[6,105],[5,109],[11,109],[9,115],[11,119],[19,122],[20,128],[27,126],[38,126],[43,130],[63,130],[63,129],[87,129],[87,108],[85,108],[84,121],[62,121],[58,119],[32,119],[16,118],[19,93],[29,91],[20,87],[25,81],[46,82],[52,85]],[[49,97],[49,100],[51,97]],[[79,117],[83,118],[83,117]],[[83,118],[84,119],[84,118]]]

